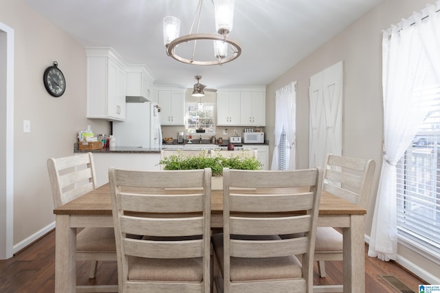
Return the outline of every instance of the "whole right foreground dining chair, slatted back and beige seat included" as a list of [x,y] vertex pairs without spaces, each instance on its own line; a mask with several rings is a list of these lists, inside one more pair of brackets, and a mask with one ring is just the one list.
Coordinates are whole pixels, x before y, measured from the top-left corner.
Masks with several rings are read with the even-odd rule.
[[321,188],[317,168],[223,169],[223,233],[212,236],[217,292],[313,292]]

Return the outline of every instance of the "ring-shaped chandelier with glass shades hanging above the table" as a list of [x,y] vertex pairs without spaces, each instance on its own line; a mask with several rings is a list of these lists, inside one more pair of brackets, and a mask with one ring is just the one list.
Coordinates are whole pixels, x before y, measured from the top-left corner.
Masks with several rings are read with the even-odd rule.
[[[166,54],[175,60],[192,65],[223,65],[239,58],[241,47],[235,40],[228,37],[232,31],[232,22],[234,19],[234,0],[212,0],[214,4],[215,29],[218,34],[199,34],[201,6],[203,0],[199,0],[199,5],[192,20],[191,30],[185,36],[180,34],[180,20],[174,16],[166,16],[164,18],[164,45]],[[192,34],[192,30],[197,19],[197,30]],[[214,54],[212,60],[196,60],[195,51],[197,40],[212,40]],[[177,54],[177,45],[193,41],[192,56],[180,56]],[[228,45],[232,51],[232,55],[228,56]],[[215,58],[215,59],[214,59]]]

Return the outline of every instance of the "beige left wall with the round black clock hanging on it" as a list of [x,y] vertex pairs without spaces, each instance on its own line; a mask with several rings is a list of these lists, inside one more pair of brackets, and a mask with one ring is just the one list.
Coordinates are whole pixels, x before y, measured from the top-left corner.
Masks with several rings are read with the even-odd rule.
[[[14,30],[14,246],[54,221],[47,176],[49,157],[73,154],[76,132],[91,125],[109,132],[107,121],[86,115],[83,47],[21,0],[0,0],[0,22]],[[56,60],[66,78],[61,97],[50,96],[43,72]],[[23,119],[31,132],[23,133]]]

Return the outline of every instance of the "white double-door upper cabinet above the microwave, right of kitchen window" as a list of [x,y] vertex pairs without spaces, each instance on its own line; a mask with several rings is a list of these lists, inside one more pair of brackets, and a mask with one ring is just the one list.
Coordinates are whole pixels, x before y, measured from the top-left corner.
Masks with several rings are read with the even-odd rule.
[[217,91],[218,126],[265,126],[265,86]]

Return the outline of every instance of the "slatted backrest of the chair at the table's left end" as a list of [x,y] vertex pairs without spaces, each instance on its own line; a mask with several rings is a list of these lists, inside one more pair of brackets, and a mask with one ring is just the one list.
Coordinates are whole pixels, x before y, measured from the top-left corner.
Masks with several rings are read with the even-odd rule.
[[47,159],[55,208],[96,188],[94,158],[89,152]]

